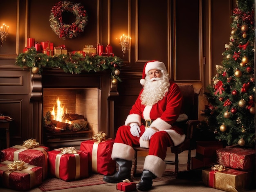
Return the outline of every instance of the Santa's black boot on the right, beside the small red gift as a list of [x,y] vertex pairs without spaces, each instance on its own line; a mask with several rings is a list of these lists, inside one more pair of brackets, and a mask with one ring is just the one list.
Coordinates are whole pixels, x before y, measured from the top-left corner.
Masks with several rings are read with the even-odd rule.
[[157,178],[152,172],[148,170],[143,170],[141,175],[141,181],[136,184],[136,188],[140,191],[148,191],[151,189],[153,184],[153,179]]

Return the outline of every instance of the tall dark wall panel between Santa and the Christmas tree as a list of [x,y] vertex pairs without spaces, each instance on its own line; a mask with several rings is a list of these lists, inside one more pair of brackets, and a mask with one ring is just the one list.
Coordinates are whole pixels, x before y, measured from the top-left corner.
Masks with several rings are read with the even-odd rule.
[[201,4],[202,0],[174,1],[175,81],[202,81]]

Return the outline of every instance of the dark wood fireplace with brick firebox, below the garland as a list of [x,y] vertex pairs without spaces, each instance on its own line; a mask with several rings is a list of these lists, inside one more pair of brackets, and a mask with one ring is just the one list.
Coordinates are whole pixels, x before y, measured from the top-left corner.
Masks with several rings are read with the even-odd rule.
[[[82,141],[91,139],[99,131],[113,137],[113,103],[118,92],[109,73],[67,74],[60,69],[44,69],[40,75],[31,74],[31,103],[38,110],[38,115],[33,115],[33,124],[40,122],[36,131],[37,141],[57,148],[80,146]],[[46,113],[52,112],[53,107],[56,112],[58,100],[65,114],[84,117],[88,123],[85,129],[74,132],[69,129],[55,131],[47,127]]]

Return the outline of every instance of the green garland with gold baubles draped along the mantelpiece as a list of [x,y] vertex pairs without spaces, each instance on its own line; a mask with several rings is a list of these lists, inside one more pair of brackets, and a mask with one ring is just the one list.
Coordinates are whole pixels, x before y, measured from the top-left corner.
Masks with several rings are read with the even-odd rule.
[[[107,56],[88,56],[83,57],[82,54],[75,53],[68,55],[47,56],[43,53],[37,53],[35,47],[28,49],[26,53],[21,53],[16,58],[15,65],[23,67],[31,67],[32,72],[41,74],[43,67],[63,69],[66,73],[80,74],[82,71],[105,71],[110,70],[110,78],[115,84],[119,78],[119,69],[121,68],[121,58]],[[33,68],[35,70],[33,70]]]

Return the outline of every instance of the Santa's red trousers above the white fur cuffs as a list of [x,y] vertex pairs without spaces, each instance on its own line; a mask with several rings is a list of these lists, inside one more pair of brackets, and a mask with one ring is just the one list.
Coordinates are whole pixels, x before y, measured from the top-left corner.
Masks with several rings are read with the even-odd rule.
[[[140,126],[140,136],[145,132],[145,126]],[[117,130],[117,135],[115,138],[115,143],[124,143],[130,145],[131,147],[139,146],[139,137],[133,136],[130,133],[130,126],[123,125]],[[167,147],[171,147],[173,141],[169,134],[165,131],[158,131],[153,134],[150,138],[149,144],[149,155],[155,155],[161,158],[163,161],[166,157]]]

